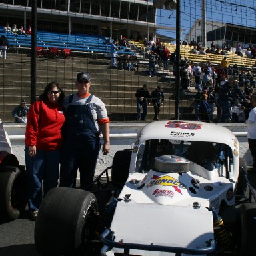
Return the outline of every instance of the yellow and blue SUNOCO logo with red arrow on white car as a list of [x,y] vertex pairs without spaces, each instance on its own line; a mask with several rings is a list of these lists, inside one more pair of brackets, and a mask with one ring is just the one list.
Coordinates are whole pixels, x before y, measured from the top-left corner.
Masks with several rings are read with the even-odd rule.
[[174,179],[173,177],[170,177],[170,176],[159,177],[157,175],[154,175],[152,179],[153,181],[150,181],[149,184],[147,184],[147,187],[152,187],[155,185],[171,186],[181,195],[182,195],[181,189],[185,189],[186,187],[186,185],[184,185],[183,183],[179,182],[177,179]]

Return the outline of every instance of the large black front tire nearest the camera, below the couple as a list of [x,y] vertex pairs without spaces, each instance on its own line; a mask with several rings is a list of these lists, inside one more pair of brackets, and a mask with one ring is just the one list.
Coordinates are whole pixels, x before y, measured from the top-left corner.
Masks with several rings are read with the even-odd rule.
[[51,189],[35,221],[35,247],[40,255],[75,255],[85,240],[85,225],[97,211],[93,193],[80,189]]

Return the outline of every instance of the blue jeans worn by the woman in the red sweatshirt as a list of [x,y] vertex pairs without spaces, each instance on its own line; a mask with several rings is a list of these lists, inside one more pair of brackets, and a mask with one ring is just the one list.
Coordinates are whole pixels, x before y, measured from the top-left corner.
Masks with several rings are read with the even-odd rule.
[[37,211],[43,196],[58,185],[60,151],[37,149],[35,157],[30,157],[26,147],[25,161],[29,185],[29,210]]

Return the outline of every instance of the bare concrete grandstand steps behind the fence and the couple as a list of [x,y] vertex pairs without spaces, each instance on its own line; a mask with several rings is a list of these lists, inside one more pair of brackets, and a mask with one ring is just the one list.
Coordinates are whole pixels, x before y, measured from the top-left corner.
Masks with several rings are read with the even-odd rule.
[[[149,91],[161,85],[165,92],[165,105],[161,107],[160,119],[174,115],[175,101],[171,100],[175,88],[171,79],[165,79],[165,72],[159,77],[147,76],[147,65],[139,71],[123,71],[109,67],[108,59],[75,57],[74,59],[37,58],[37,96],[51,81],[57,81],[69,95],[76,91],[77,73],[86,71],[91,75],[91,93],[103,100],[109,117],[116,121],[137,119],[135,92],[147,83]],[[160,69],[159,69],[160,71]],[[31,59],[26,53],[8,53],[7,60],[0,59],[0,118],[13,121],[11,111],[19,105],[20,99],[31,101]],[[187,107],[191,103],[183,102]],[[153,107],[149,106],[148,119],[153,119]]]

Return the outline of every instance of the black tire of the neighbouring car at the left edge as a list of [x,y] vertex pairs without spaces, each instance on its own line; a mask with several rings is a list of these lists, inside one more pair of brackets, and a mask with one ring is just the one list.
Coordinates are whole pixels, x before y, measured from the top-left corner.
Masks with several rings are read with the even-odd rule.
[[27,178],[19,167],[1,167],[0,218],[3,221],[18,219],[27,205]]

